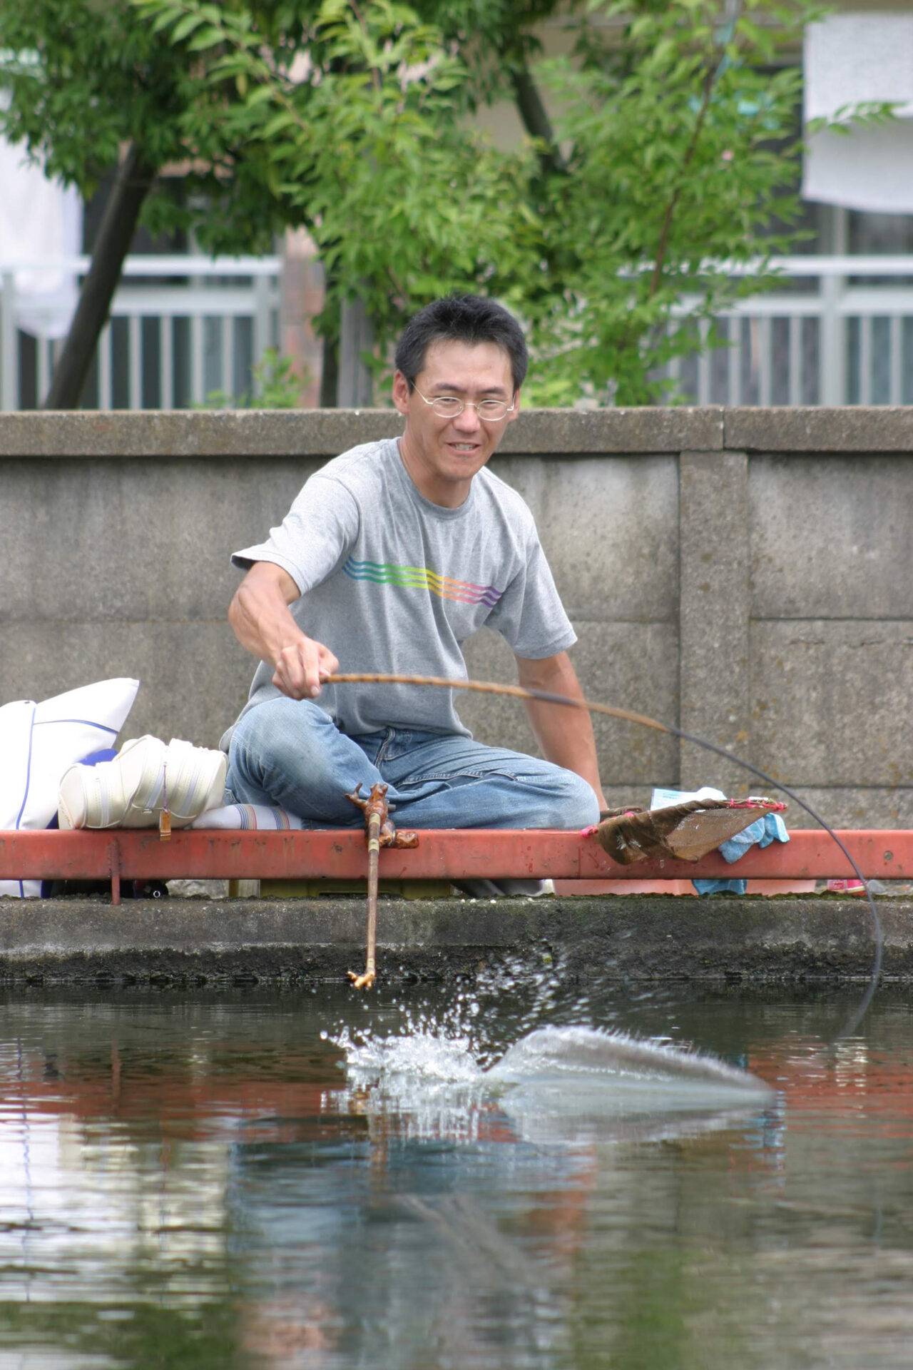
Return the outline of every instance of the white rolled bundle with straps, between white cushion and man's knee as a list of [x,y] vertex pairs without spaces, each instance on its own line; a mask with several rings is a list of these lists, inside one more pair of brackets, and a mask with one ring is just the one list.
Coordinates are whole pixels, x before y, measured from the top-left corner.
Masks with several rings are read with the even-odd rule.
[[60,781],[60,827],[155,827],[167,807],[172,827],[218,808],[229,759],[178,737],[125,743],[112,762],[71,766]]

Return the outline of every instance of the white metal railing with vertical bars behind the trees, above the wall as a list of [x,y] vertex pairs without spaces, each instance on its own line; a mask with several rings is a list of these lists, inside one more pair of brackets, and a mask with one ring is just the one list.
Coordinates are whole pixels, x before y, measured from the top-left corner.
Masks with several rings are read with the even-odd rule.
[[[41,403],[60,345],[29,344],[33,374],[21,374],[15,271],[88,266],[0,262],[0,408]],[[772,267],[782,289],[720,314],[728,345],[669,367],[693,403],[913,403],[913,256],[786,256]],[[88,403],[181,408],[256,389],[250,369],[278,338],[281,270],[278,256],[127,258]]]

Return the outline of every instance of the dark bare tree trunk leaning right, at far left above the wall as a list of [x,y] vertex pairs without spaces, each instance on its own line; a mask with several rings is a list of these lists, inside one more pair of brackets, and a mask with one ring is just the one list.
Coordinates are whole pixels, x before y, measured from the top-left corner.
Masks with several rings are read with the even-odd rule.
[[155,169],[146,166],[136,144],[130,144],[101,218],[92,252],[92,266],[82,282],[79,304],[60,360],[53,369],[51,389],[44,401],[45,410],[79,408],[94,349],[108,322],[123,259],[130,251],[140,210],[153,181]]

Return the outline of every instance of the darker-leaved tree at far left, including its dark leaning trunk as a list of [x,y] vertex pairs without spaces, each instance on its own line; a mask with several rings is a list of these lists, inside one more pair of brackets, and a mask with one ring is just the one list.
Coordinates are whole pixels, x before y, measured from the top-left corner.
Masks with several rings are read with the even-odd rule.
[[[120,0],[3,0],[0,52],[0,133],[86,197],[116,173],[47,401],[75,408],[140,222],[193,227],[212,249],[263,251],[283,212],[244,149],[229,182],[194,159],[182,115],[200,95],[198,60]],[[181,196],[159,174],[168,163],[188,166]]]

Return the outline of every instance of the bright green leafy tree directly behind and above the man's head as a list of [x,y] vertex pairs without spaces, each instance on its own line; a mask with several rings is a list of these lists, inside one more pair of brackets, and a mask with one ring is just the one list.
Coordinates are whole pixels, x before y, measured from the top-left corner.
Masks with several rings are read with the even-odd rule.
[[[304,78],[249,10],[134,3],[207,63],[189,140],[260,148],[329,269],[327,312],[364,300],[378,367],[404,314],[483,289],[530,326],[534,399],[650,403],[657,370],[702,345],[702,323],[717,341],[715,312],[769,285],[795,240],[801,73],[782,52],[816,12],[803,0],[727,19],[716,0],[590,0],[554,62],[537,60],[545,0],[416,0],[420,15],[324,0]],[[531,136],[515,153],[467,123],[505,92]]]

